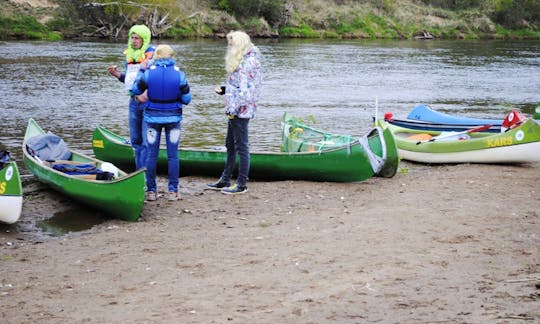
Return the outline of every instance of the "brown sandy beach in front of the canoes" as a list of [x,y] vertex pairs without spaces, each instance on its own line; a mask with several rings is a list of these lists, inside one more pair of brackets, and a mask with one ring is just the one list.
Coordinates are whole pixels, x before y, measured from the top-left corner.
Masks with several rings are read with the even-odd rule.
[[[539,170],[402,162],[232,197],[186,177],[135,223],[40,239],[3,225],[2,322],[539,322]],[[27,190],[22,223],[72,205]]]

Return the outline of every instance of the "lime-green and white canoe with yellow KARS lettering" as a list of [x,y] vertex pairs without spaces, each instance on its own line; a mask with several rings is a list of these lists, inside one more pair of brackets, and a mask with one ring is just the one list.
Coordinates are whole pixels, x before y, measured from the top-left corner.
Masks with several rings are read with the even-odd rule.
[[[379,124],[395,136],[400,156],[422,163],[540,162],[540,125],[527,119],[504,133],[467,130],[441,133],[404,128],[383,120]],[[481,131],[482,127],[478,127]],[[437,137],[439,136],[439,137]]]

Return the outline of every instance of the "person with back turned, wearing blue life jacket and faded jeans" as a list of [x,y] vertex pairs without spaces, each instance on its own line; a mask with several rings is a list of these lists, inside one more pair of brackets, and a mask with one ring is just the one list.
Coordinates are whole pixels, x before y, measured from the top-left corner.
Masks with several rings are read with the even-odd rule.
[[[156,169],[162,131],[165,131],[168,161],[168,195],[170,201],[178,200],[180,162],[178,146],[182,121],[182,108],[191,102],[191,92],[186,74],[173,59],[169,45],[159,45],[148,69],[140,71],[132,93],[144,102],[143,121],[146,133],[146,200],[157,200]],[[146,91],[146,93],[145,93]]]

